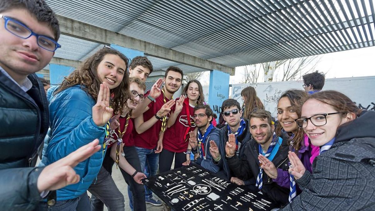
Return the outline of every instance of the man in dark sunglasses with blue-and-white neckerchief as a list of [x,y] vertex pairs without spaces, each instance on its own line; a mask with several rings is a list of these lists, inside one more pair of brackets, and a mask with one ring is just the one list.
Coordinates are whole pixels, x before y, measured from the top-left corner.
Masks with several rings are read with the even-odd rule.
[[[247,140],[251,139],[250,124],[248,119],[242,118],[240,103],[235,99],[226,99],[221,106],[221,110],[226,126],[220,129],[220,146],[218,148],[215,146],[214,150],[211,150],[210,153],[215,160],[215,164],[222,169],[219,175],[237,183],[239,181],[237,179],[238,176],[229,169],[226,155],[235,153],[240,159],[243,157],[244,144]],[[235,152],[229,152],[229,137],[235,139]],[[242,185],[255,184],[254,179],[252,181],[241,182],[243,183]]]

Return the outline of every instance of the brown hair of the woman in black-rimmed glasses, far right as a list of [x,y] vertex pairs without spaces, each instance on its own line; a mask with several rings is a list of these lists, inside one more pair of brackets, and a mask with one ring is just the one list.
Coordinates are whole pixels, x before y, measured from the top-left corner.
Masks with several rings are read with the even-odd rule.
[[337,112],[341,112],[342,116],[345,116],[347,113],[355,113],[359,116],[363,111],[362,109],[359,109],[356,103],[348,98],[348,96],[338,91],[320,91],[313,95],[309,95],[306,100],[309,99],[316,99],[317,101],[331,105]]

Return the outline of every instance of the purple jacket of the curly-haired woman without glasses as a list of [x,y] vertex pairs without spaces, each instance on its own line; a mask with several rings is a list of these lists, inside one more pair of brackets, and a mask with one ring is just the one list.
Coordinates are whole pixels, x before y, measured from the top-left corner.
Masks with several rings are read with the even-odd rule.
[[[309,137],[305,134],[304,135],[304,142],[302,142],[302,146],[298,151],[297,156],[300,158],[303,166],[311,173],[311,166],[312,161],[314,158],[319,155],[319,147],[314,146],[309,142]],[[276,184],[281,187],[289,188],[290,187],[290,177],[288,171],[283,171],[282,169],[276,169],[278,171],[278,177],[276,179],[272,179]],[[297,193],[301,193],[300,188],[297,185]]]

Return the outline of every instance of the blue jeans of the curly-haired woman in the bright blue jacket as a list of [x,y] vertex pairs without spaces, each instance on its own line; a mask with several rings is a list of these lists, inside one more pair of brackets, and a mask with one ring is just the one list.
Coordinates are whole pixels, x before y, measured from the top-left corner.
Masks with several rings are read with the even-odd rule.
[[90,199],[87,193],[84,193],[75,199],[58,201],[53,206],[39,202],[36,211],[91,211]]

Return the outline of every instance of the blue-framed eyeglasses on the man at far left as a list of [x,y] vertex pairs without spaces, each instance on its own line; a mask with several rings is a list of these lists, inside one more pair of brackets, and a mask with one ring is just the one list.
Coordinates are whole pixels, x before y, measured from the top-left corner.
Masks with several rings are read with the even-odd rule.
[[34,35],[36,36],[37,44],[47,51],[54,52],[57,48],[61,48],[61,45],[58,44],[54,39],[45,35],[39,35],[31,31],[31,29],[29,29],[25,24],[21,23],[20,21],[17,21],[13,18],[1,14],[0,18],[3,18],[5,21],[5,29],[13,35],[18,36],[19,38],[27,39]]

